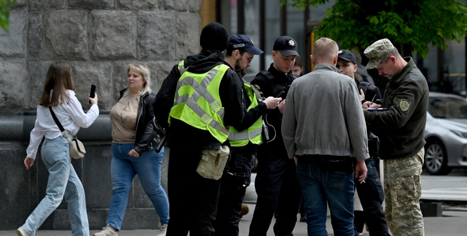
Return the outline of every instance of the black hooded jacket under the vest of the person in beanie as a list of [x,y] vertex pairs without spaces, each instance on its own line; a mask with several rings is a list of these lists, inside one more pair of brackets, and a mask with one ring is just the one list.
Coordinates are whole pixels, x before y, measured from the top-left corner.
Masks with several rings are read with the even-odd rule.
[[[184,66],[188,72],[204,74],[214,66],[222,64],[224,56],[217,50],[202,50],[197,55],[188,56]],[[177,82],[180,79],[178,64],[174,65],[169,76],[165,78],[156,99],[152,104],[155,118],[163,128],[169,127],[169,113],[174,106]],[[227,70],[219,85],[219,96],[224,107],[224,125],[237,126],[244,118],[242,101],[242,83],[238,75]],[[172,119],[170,126],[169,147],[181,148],[185,151],[201,151],[204,149],[219,150],[221,143],[207,130],[195,128],[183,121]],[[223,145],[229,145],[228,140]]]

